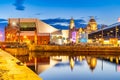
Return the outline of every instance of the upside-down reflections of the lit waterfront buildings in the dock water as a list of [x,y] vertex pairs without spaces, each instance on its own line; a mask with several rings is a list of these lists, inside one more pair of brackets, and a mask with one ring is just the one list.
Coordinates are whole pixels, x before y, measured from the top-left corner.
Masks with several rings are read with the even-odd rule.
[[[68,66],[71,70],[74,70],[75,66],[85,65],[87,62],[89,69],[93,72],[97,66],[97,59],[101,61],[101,70],[104,70],[104,63],[115,64],[115,70],[120,71],[120,57],[119,56],[61,56],[61,55],[44,55],[29,54],[26,56],[16,56],[26,66],[31,68],[37,74],[51,68],[51,67],[64,67]],[[58,64],[59,66],[55,66]]]

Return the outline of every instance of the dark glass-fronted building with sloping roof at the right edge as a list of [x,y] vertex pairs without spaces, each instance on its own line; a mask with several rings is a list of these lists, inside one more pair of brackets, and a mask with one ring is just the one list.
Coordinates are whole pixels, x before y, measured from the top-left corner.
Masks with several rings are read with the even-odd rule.
[[89,40],[101,44],[120,44],[120,22],[88,34]]

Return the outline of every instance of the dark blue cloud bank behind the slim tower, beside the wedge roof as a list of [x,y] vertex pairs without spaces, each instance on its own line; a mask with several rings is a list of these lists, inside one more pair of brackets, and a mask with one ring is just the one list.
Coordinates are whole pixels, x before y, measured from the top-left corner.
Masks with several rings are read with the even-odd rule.
[[[54,19],[44,19],[43,22],[57,28],[57,29],[69,29],[70,19],[61,19],[61,18],[54,18]],[[86,21],[83,19],[74,19],[76,28],[85,27]]]

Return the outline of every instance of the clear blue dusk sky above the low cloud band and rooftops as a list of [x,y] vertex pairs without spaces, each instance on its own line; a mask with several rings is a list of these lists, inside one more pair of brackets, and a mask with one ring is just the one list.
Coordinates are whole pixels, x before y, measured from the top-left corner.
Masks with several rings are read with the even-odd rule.
[[75,18],[95,16],[100,24],[120,17],[120,0],[0,0],[0,21],[8,18]]

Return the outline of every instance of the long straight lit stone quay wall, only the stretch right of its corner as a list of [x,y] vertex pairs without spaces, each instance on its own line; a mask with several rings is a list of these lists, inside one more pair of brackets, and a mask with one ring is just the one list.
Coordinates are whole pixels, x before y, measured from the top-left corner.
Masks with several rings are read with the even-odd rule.
[[29,51],[70,51],[70,52],[120,52],[120,47],[113,46],[59,46],[59,45],[32,45]]

